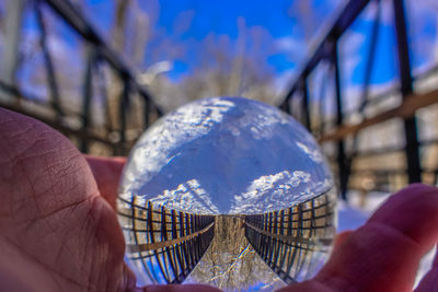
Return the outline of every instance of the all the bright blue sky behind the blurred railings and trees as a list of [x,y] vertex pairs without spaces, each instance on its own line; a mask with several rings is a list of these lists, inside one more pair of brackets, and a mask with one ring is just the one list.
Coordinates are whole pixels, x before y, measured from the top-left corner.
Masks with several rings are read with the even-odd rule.
[[[150,17],[154,42],[169,42],[171,46],[181,46],[184,52],[172,58],[173,69],[166,72],[174,82],[192,74],[199,67],[199,56],[203,42],[208,36],[228,39],[228,48],[234,49],[238,36],[238,20],[244,19],[246,33],[258,30],[265,40],[273,46],[261,62],[265,69],[274,72],[279,86],[287,87],[293,80],[308,54],[304,42],[306,22],[323,28],[333,13],[342,8],[346,0],[309,0],[310,12],[306,15],[293,13],[298,0],[276,0],[269,4],[266,1],[201,1],[201,0],[150,0],[132,1],[138,3]],[[394,82],[397,74],[395,35],[392,23],[392,7],[390,1],[382,0],[382,21],[378,38],[376,65],[371,83],[381,85]],[[414,70],[422,70],[436,63],[437,58],[437,15],[438,5],[434,0],[405,0],[410,30],[411,57]],[[114,21],[114,1],[85,0],[84,12],[101,34],[110,38]],[[292,5],[295,3],[295,7]],[[366,56],[370,43],[370,32],[373,22],[374,8],[369,5],[341,40],[342,78],[345,87],[359,86],[364,81]],[[292,12],[292,13],[290,13]],[[301,17],[297,17],[301,16]],[[35,20],[25,17],[24,27],[36,34]],[[73,51],[80,44],[79,38],[61,22],[53,28],[61,38],[65,50]],[[61,43],[61,42],[58,42]],[[251,47],[247,43],[246,47]],[[176,48],[178,49],[178,48]],[[66,51],[65,54],[71,54]],[[152,61],[146,54],[142,67],[165,60],[158,56]],[[78,58],[78,60],[73,59]],[[71,57],[71,62],[78,62],[81,57]],[[258,61],[258,60],[257,60]],[[140,66],[141,67],[141,66]],[[263,69],[263,70],[265,70]],[[24,70],[25,71],[25,70]]]

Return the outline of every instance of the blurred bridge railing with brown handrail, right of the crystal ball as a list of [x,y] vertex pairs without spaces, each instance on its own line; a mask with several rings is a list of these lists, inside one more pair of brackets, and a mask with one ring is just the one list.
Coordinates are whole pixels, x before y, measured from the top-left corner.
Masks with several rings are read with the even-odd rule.
[[[285,112],[301,120],[316,137],[323,150],[326,149],[326,155],[338,178],[344,199],[348,189],[359,189],[365,194],[371,190],[392,192],[408,183],[437,184],[438,164],[427,161],[426,153],[436,151],[438,139],[420,139],[418,113],[425,107],[433,108],[431,106],[438,102],[438,91],[434,89],[427,90],[426,93],[414,91],[414,82],[420,83],[424,79],[438,75],[438,67],[431,68],[422,75],[413,74],[404,0],[387,1],[392,5],[396,50],[391,54],[397,57],[399,84],[377,96],[370,94],[383,2],[385,1],[349,1],[330,30],[316,43],[280,105]],[[351,101],[353,96],[347,96],[343,89],[339,59],[345,56],[339,56],[341,39],[355,20],[371,4],[377,9],[371,32],[367,36],[369,42],[364,43],[367,44],[366,54],[361,55],[361,58],[366,58],[366,66],[359,106],[354,110],[347,110],[346,103]],[[334,98],[330,98],[332,97],[331,90],[327,86],[322,87],[321,93],[311,94],[312,74],[321,66],[327,67],[323,83],[333,81],[331,85],[334,89]],[[318,98],[320,102],[316,102]],[[334,114],[328,116],[326,110],[321,108],[332,100]],[[320,109],[316,110],[315,107]],[[315,110],[318,114],[314,114]],[[391,129],[382,133],[377,129],[380,126],[381,128],[388,126]],[[433,127],[431,125],[422,126]],[[394,128],[400,130],[395,131]],[[384,140],[396,136],[400,142],[390,147],[368,147],[364,150],[365,148],[360,144],[364,139],[359,137],[365,132],[374,133],[371,135],[373,138],[368,136],[371,140]]]

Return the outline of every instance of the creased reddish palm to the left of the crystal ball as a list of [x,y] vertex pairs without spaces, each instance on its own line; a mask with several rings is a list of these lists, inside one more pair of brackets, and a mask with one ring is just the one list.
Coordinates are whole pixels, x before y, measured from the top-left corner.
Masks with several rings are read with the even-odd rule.
[[124,160],[88,159],[0,108],[0,291],[218,291],[136,288],[113,210]]

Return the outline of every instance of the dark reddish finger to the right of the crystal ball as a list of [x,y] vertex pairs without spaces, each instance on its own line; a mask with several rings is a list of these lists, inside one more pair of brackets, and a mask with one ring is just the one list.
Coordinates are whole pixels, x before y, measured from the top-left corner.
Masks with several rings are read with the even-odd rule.
[[315,281],[334,290],[411,291],[422,256],[438,238],[438,191],[415,184],[354,232],[339,234]]

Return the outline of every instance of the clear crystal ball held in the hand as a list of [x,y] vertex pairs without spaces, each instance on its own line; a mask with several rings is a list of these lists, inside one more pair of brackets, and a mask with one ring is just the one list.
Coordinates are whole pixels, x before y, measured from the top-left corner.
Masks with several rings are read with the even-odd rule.
[[117,213],[139,284],[272,291],[324,264],[335,203],[327,163],[299,122],[261,102],[212,97],[139,138]]

